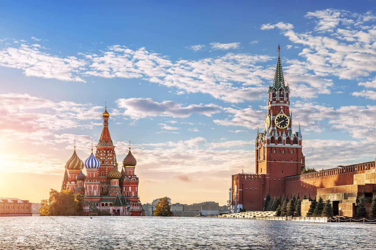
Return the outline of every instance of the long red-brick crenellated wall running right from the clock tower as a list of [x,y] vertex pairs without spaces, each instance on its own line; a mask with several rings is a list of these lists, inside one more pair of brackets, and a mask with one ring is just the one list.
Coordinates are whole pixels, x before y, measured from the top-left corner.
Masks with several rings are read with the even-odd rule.
[[374,169],[375,163],[367,162],[340,169],[328,169],[325,171],[306,173],[303,175],[289,176],[285,178],[285,195],[297,194],[302,198],[304,194],[314,199],[317,188],[335,187],[340,185],[352,185],[353,176],[364,173],[365,170]]

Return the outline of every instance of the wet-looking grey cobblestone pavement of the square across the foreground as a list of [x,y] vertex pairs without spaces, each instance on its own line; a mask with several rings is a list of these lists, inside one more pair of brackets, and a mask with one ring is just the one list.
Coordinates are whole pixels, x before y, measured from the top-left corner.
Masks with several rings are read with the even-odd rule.
[[183,217],[0,217],[0,249],[373,249],[376,225]]

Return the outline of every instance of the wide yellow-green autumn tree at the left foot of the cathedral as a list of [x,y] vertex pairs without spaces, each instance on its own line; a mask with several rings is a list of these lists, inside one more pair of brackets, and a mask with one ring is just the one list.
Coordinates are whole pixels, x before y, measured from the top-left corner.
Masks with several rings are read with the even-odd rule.
[[83,196],[74,195],[70,190],[60,192],[51,189],[48,200],[41,201],[39,214],[42,216],[76,216],[82,215]]

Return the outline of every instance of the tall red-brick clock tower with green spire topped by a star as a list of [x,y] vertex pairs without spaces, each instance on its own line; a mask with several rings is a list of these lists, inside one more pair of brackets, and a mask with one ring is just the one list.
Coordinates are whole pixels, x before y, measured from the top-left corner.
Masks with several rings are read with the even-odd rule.
[[[278,61],[273,86],[268,89],[268,113],[265,130],[257,131],[256,174],[265,174],[265,189],[270,196],[285,191],[285,176],[299,175],[304,167],[302,134],[293,133],[290,111],[290,87],[285,84],[278,45]],[[269,180],[268,180],[269,179]]]

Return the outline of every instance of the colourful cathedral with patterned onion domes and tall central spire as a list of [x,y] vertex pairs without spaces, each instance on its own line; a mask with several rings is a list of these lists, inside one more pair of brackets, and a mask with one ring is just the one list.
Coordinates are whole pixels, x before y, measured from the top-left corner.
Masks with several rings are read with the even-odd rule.
[[[144,216],[138,197],[136,159],[129,146],[129,152],[119,172],[115,146],[108,130],[109,116],[105,108],[102,114],[103,130],[96,151],[93,152],[91,148],[91,155],[85,162],[77,156],[74,146],[73,155],[65,164],[61,189],[69,189],[74,194],[83,195],[83,215],[94,215],[95,211],[92,208],[96,206],[97,209],[107,211],[111,215]],[[83,167],[86,169],[86,176],[82,172]]]

